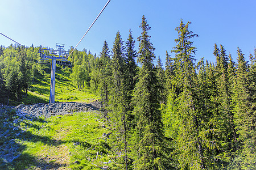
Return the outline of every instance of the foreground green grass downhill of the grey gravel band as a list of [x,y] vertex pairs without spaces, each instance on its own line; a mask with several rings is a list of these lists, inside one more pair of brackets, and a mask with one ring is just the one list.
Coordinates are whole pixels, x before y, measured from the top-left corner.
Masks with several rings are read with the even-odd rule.
[[[21,155],[11,164],[1,164],[3,160],[0,159],[0,169],[40,169],[46,166],[59,169],[100,169],[106,165],[104,162],[114,158],[110,156],[108,140],[102,135],[110,133],[110,130],[102,127],[99,117],[100,113],[96,111],[81,112],[13,124],[19,130],[11,130],[12,135],[1,140],[6,145],[10,139],[14,139]],[[3,121],[0,126],[2,124]],[[22,135],[16,136],[16,133]],[[3,148],[0,147],[0,151]],[[114,166],[114,163],[108,166]]]

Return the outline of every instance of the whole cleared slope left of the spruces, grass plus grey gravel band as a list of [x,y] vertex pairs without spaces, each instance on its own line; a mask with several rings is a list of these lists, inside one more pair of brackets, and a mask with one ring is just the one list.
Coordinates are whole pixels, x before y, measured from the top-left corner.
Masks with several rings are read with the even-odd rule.
[[87,88],[76,90],[70,69],[57,66],[56,103],[47,104],[50,73],[45,70],[35,76],[22,104],[0,106],[0,169],[109,167],[109,130],[98,96]]

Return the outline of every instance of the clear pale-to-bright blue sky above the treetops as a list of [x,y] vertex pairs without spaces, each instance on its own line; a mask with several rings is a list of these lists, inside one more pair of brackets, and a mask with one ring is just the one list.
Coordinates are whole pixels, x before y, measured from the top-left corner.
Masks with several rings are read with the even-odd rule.
[[[0,0],[0,32],[26,46],[55,48],[58,42],[68,50],[76,46],[107,1]],[[175,28],[180,19],[192,22],[190,30],[199,35],[192,40],[197,60],[204,57],[215,62],[214,43],[224,45],[235,61],[238,46],[247,61],[256,47],[256,0],[112,0],[77,49],[85,48],[98,56],[104,40],[112,49],[115,34],[119,31],[126,41],[130,28],[138,46],[142,15],[151,27],[149,35],[155,55],[162,62],[166,50],[170,53],[176,45]],[[11,43],[14,42],[0,35],[0,45]]]

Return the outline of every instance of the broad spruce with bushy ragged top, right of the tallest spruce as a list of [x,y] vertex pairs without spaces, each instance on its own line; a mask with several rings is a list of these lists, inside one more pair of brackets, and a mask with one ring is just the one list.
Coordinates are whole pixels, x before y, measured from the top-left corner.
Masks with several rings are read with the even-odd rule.
[[205,135],[207,116],[201,109],[200,86],[198,86],[195,70],[196,48],[190,40],[198,35],[189,31],[188,22],[181,20],[176,28],[178,38],[177,45],[172,52],[172,90],[168,96],[167,116],[170,119],[170,127],[174,138],[174,158],[181,169],[205,169],[209,167],[213,158],[207,156],[210,150],[208,137]]

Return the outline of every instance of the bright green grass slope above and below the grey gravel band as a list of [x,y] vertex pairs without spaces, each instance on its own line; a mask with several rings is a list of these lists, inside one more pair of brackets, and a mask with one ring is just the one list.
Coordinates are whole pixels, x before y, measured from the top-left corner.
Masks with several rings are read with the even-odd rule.
[[[90,102],[98,99],[97,95],[86,88],[76,90],[69,74],[68,71],[61,69],[56,71],[56,102]],[[50,75],[47,73],[40,79],[35,79],[27,97],[23,99],[23,104],[48,103]],[[6,119],[2,117],[3,115],[9,116]],[[0,139],[0,151],[5,154],[20,154],[19,158],[9,164],[3,163],[3,159],[0,158],[0,169],[100,169],[104,166],[113,169],[116,167],[113,163],[115,158],[109,156],[112,154],[109,151],[108,141],[102,135],[108,134],[110,130],[96,121],[99,118],[98,112],[18,122],[15,121],[18,117],[13,112],[0,116],[0,126],[5,125],[5,128],[1,129],[2,132],[8,130],[10,134]],[[11,147],[18,148],[17,151],[10,151],[8,148],[10,141],[13,145]]]

